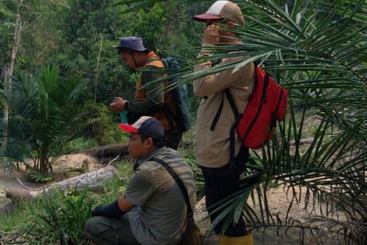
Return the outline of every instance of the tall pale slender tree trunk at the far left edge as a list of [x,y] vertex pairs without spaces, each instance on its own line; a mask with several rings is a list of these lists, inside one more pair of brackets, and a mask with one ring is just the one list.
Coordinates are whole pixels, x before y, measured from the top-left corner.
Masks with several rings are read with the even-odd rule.
[[[10,93],[11,90],[11,77],[13,75],[14,71],[14,64],[15,64],[15,58],[17,58],[17,51],[19,42],[21,40],[21,34],[22,34],[22,16],[20,12],[20,6],[23,4],[23,0],[20,1],[20,4],[18,6],[17,10],[17,18],[15,19],[15,28],[14,28],[14,40],[11,47],[11,53],[10,53],[10,64],[8,67],[5,68],[4,72],[4,89],[6,93]],[[3,145],[2,145],[2,154],[5,155],[6,148],[8,144],[8,115],[9,115],[9,105],[5,102],[4,103],[4,132],[3,132]]]

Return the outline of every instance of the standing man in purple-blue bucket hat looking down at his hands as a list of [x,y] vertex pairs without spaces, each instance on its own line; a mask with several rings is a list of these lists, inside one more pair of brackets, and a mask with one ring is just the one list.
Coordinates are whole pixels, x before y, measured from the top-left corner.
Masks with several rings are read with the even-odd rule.
[[[118,50],[125,64],[131,69],[149,66],[164,68],[159,56],[144,47],[141,37],[123,37],[120,39],[120,44],[113,47]],[[167,147],[177,149],[182,138],[182,131],[174,120],[177,109],[172,91],[164,94],[157,93],[157,90],[164,86],[164,82],[155,83],[145,89],[141,89],[143,85],[163,76],[161,73],[142,72],[137,82],[137,92],[135,93],[134,101],[116,97],[110,104],[110,108],[115,112],[127,111],[129,123],[134,123],[140,116],[157,118],[163,125]]]

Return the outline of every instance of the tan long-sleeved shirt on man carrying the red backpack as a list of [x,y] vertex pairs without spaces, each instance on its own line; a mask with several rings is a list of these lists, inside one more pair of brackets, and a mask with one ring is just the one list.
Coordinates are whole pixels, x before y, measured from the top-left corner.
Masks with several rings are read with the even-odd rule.
[[[200,51],[198,58],[212,56],[211,51]],[[245,57],[231,57],[223,59],[218,65],[244,60]],[[211,61],[195,66],[195,71],[209,69]],[[218,72],[194,81],[196,96],[205,97],[200,102],[196,124],[196,162],[204,167],[222,167],[229,163],[229,133],[235,123],[235,116],[227,98],[214,131],[210,131],[211,123],[222,101],[222,90],[229,88],[240,113],[246,108],[255,82],[255,66],[252,62],[232,73],[233,69]],[[237,134],[236,134],[237,136]],[[240,150],[240,140],[235,140],[235,155]]]

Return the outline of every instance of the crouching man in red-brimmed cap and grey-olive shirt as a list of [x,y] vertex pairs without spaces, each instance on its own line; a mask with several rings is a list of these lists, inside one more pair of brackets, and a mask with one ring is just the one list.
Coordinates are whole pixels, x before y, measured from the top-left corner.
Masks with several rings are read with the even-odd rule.
[[[85,230],[93,244],[179,244],[185,233],[185,198],[167,164],[182,180],[190,208],[195,210],[195,184],[189,165],[177,151],[164,146],[161,123],[142,116],[133,125],[120,125],[130,133],[129,154],[137,162],[123,197],[92,210]],[[161,165],[162,164],[162,165]]]

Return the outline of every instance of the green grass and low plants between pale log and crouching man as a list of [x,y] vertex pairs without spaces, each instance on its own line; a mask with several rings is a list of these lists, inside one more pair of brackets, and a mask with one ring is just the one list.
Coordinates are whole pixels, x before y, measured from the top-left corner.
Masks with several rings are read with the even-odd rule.
[[[103,190],[81,194],[52,191],[31,202],[18,203],[14,213],[0,215],[0,230],[15,232],[17,244],[90,244],[83,230],[91,209],[121,197],[132,174],[131,162],[115,162],[114,166],[119,176],[107,181]],[[8,242],[1,239],[0,243]]]

